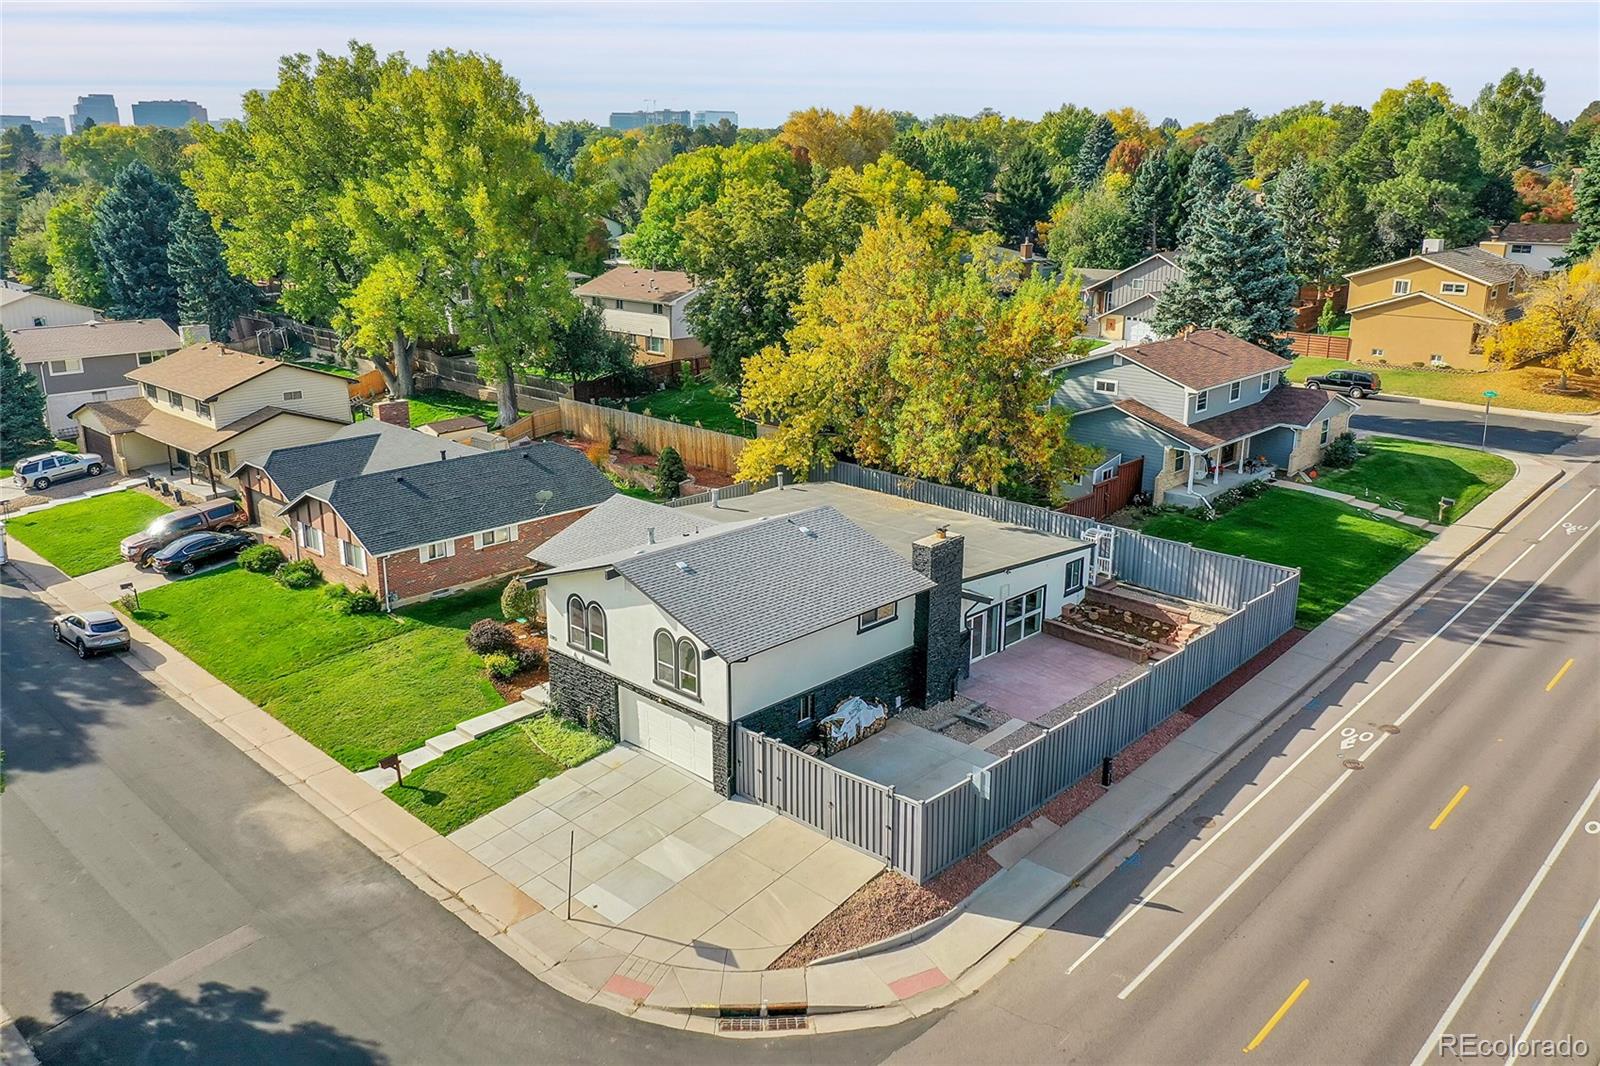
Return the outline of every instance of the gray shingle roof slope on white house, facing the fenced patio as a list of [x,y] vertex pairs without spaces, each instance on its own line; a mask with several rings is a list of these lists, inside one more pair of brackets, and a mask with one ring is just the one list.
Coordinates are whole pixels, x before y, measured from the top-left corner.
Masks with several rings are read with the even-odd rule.
[[738,523],[613,565],[728,661],[933,587],[832,507]]

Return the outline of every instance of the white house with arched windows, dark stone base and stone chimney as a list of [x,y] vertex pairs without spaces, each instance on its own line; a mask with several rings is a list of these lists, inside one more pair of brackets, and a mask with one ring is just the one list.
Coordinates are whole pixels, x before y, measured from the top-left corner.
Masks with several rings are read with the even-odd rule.
[[813,483],[662,507],[616,498],[549,565],[550,696],[731,791],[734,723],[800,746],[850,696],[949,699],[1082,599],[1093,547]]

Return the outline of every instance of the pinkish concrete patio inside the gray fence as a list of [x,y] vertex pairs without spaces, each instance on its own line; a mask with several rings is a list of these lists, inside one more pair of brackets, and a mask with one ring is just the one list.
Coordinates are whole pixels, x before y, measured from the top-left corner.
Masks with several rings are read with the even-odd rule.
[[1107,651],[1040,634],[973,663],[962,695],[1013,719],[1037,722],[1088,690],[1138,669]]

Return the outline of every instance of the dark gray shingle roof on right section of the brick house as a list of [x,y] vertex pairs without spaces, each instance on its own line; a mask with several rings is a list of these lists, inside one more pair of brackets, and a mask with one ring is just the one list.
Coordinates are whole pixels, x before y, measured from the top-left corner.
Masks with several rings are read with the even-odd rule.
[[[541,491],[552,496],[539,503]],[[373,555],[592,507],[614,495],[581,451],[544,440],[344,477],[317,493]]]

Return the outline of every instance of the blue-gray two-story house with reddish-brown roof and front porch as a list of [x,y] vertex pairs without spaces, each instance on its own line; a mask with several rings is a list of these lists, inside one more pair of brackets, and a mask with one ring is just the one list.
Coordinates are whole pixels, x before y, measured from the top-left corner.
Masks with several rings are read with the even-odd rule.
[[1360,407],[1285,381],[1290,360],[1221,330],[1203,330],[1054,368],[1053,402],[1072,439],[1144,458],[1152,503],[1206,506],[1274,471],[1298,474],[1350,427]]

